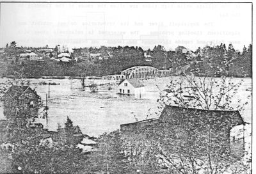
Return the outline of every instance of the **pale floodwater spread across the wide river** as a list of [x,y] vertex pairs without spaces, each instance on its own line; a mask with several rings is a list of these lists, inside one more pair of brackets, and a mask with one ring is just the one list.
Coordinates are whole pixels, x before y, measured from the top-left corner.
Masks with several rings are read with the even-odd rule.
[[[115,131],[120,128],[120,124],[145,120],[146,118],[156,118],[159,116],[157,99],[160,90],[164,90],[166,84],[170,83],[172,77],[162,77],[148,80],[141,80],[145,85],[145,94],[140,99],[134,95],[119,95],[117,84],[102,79],[86,79],[86,84],[104,84],[98,86],[99,90],[92,93],[89,88],[81,89],[79,79],[28,79],[31,88],[42,98],[45,105],[46,93],[49,93],[48,85],[40,83],[60,83],[50,85],[50,97],[48,99],[48,125],[45,119],[38,119],[50,131],[56,131],[58,123],[63,127],[67,116],[74,125],[79,125],[83,134],[99,136],[104,132]],[[173,77],[179,78],[179,77]],[[7,79],[0,79],[3,83]],[[237,82],[241,79],[236,78]],[[248,101],[246,96],[252,92],[252,79],[244,78],[236,99],[242,102]],[[109,84],[111,83],[111,84]],[[246,122],[252,120],[252,101],[241,113]],[[0,106],[0,118],[3,119],[3,106]]]

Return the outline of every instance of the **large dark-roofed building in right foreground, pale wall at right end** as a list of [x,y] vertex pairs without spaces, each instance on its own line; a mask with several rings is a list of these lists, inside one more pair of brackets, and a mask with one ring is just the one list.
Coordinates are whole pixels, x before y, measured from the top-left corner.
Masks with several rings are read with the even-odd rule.
[[160,131],[163,135],[170,134],[170,132],[175,130],[179,134],[175,137],[179,139],[191,130],[191,132],[197,134],[198,139],[201,136],[204,139],[203,136],[208,134],[211,129],[211,137],[221,141],[223,152],[227,152],[225,150],[228,148],[232,155],[239,154],[239,157],[242,157],[244,155],[244,148],[248,148],[248,154],[250,154],[251,150],[250,141],[246,143],[246,137],[250,139],[251,131],[250,129],[244,129],[246,126],[248,125],[244,123],[239,111],[216,111],[165,106],[159,118],[123,124],[120,125],[120,131],[125,136],[126,132],[127,135],[131,135],[130,132],[144,134],[145,130],[148,129],[150,129],[149,132],[152,134]]

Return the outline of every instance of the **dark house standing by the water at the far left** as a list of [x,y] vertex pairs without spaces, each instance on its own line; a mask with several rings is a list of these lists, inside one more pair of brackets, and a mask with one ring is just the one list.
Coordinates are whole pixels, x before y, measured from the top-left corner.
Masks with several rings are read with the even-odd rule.
[[29,86],[11,86],[3,96],[4,115],[17,116],[18,113],[28,113],[33,117],[37,115],[40,97]]

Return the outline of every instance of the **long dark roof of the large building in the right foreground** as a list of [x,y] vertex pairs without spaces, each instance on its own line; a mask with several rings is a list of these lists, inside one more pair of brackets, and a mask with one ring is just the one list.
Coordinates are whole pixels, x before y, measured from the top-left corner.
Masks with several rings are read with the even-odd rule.
[[[204,110],[194,108],[184,108],[179,106],[165,106],[161,116],[160,122],[172,122],[173,118],[182,116],[184,118],[193,118],[194,122],[204,123],[223,123],[226,122],[231,127],[244,124],[244,120],[239,111],[221,111],[221,110]],[[177,119],[176,119],[177,120]],[[180,120],[182,122],[183,120]],[[199,122],[198,122],[199,123]]]

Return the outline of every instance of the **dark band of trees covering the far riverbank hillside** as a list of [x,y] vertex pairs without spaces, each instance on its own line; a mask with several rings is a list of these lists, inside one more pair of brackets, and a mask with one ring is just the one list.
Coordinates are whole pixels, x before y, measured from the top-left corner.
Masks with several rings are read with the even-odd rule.
[[[36,48],[30,49],[38,53]],[[1,61],[10,56],[17,57],[24,50],[26,48],[18,48],[16,43],[12,42],[6,45]],[[54,51],[58,54],[57,47]],[[101,54],[102,59],[93,59],[91,54]],[[150,58],[146,59],[145,54],[150,55]],[[51,56],[45,56],[44,61],[6,63],[1,75],[13,75],[15,71],[24,68],[25,75],[30,76],[78,76],[81,74],[100,76],[120,74],[122,70],[134,66],[152,66],[158,69],[171,68],[175,75],[193,72],[196,75],[207,76],[252,77],[251,44],[248,47],[244,46],[243,51],[235,50],[231,43],[228,47],[223,43],[204,48],[198,47],[196,51],[190,51],[182,46],[177,47],[175,51],[166,51],[161,45],[156,45],[152,50],[133,46],[79,48],[74,49],[71,54],[78,60],[70,63],[56,62],[49,58]]]

